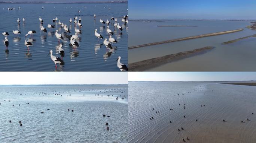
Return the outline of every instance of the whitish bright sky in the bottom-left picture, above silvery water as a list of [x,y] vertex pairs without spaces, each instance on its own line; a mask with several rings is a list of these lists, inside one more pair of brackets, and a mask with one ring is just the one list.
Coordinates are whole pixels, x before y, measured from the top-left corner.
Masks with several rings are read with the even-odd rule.
[[0,72],[0,85],[128,84],[127,72]]

